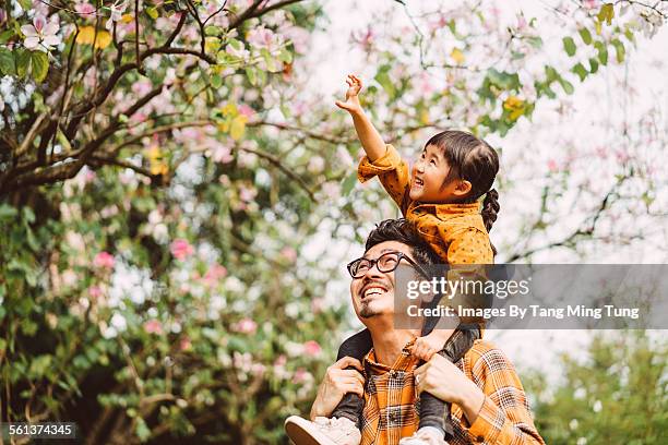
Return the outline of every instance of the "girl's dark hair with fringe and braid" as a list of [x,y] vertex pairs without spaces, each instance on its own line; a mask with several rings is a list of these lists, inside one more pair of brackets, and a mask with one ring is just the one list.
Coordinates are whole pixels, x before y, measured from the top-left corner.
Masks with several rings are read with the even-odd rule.
[[433,135],[427,145],[434,145],[443,152],[450,166],[445,181],[463,179],[470,182],[470,192],[464,203],[474,203],[485,196],[482,202],[482,220],[489,231],[497,220],[499,212],[499,193],[491,189],[499,172],[499,155],[484,140],[458,130],[446,130]]

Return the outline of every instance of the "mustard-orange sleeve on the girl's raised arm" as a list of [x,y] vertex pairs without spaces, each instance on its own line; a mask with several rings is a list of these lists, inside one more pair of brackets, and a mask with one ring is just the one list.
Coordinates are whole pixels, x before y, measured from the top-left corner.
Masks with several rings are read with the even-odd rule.
[[387,144],[385,155],[373,163],[367,156],[360,160],[357,169],[359,182],[367,182],[374,176],[378,176],[385,191],[402,209],[402,214],[406,215],[410,175],[408,165],[392,145]]

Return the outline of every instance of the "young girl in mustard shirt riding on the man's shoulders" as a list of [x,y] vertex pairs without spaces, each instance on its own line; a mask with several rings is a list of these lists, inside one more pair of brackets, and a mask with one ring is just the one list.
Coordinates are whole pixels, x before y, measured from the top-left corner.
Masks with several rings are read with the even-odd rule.
[[[414,224],[444,263],[492,264],[494,252],[488,231],[499,211],[498,193],[491,189],[499,170],[497,153],[473,134],[444,131],[427,142],[409,173],[407,164],[392,145],[383,142],[365,115],[358,98],[361,81],[348,75],[346,82],[346,100],[337,100],[336,106],[353,117],[367,154],[359,165],[359,180],[366,182],[378,176],[406,219]],[[480,209],[478,200],[482,195],[485,200]],[[449,273],[449,279],[455,278],[452,273]],[[455,329],[429,330],[422,330],[422,337],[416,339],[411,350],[414,356],[425,361],[440,352],[456,362],[480,337],[479,329],[457,329],[455,335]],[[342,345],[338,358],[350,356],[362,361],[371,347],[370,336],[363,330]],[[347,394],[332,414],[337,420],[320,422],[322,432],[332,438],[335,434],[335,443],[359,443],[360,434],[350,433],[350,429],[351,425],[360,428],[362,408],[361,397]],[[411,437],[403,438],[402,445],[443,443],[452,436],[450,407],[431,394],[420,395],[419,418],[418,431]],[[331,426],[335,430],[333,434],[326,431]]]

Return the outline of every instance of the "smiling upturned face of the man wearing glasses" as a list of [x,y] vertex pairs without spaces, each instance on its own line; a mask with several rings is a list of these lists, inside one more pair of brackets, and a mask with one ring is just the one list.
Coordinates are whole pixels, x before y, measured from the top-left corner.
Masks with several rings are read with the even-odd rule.
[[[377,260],[387,252],[402,252],[410,260],[415,260],[410,248],[398,241],[385,241],[375,244],[365,253],[363,257]],[[350,282],[353,305],[357,316],[362,322],[365,318],[372,316],[394,314],[394,273],[395,270],[380,272],[378,265],[373,265],[360,278],[353,278]]]

